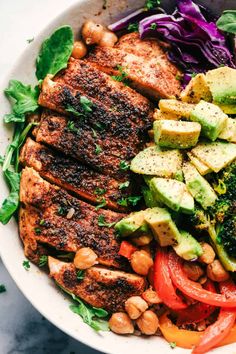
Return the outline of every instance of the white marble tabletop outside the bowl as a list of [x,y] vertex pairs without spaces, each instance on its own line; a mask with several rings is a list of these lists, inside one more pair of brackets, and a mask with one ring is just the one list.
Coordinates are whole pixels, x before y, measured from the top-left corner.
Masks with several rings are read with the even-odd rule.
[[[53,17],[75,0],[0,0],[0,80]],[[0,235],[1,237],[2,235]],[[62,333],[23,297],[0,260],[0,354],[98,354]]]

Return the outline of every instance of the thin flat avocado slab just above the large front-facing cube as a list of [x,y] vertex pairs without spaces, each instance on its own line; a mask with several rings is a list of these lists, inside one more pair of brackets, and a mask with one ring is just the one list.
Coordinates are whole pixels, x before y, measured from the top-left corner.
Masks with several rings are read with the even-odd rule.
[[160,100],[159,108],[163,113],[171,113],[184,118],[189,118],[195,105],[177,101],[175,99]]

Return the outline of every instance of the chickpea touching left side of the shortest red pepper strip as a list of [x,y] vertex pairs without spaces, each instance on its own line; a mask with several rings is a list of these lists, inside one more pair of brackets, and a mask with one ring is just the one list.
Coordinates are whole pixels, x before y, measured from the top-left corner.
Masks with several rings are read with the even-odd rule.
[[140,275],[147,275],[153,265],[151,256],[144,250],[135,251],[130,260],[133,270]]

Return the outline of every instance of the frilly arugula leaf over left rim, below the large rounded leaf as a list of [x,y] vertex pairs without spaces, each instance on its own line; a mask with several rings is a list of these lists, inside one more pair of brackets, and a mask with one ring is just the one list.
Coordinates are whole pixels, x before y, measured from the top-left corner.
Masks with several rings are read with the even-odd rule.
[[7,97],[15,100],[12,112],[4,117],[6,123],[9,122],[22,122],[24,121],[23,115],[29,112],[35,112],[38,109],[38,96],[39,88],[35,86],[32,88],[30,85],[24,85],[17,80],[10,80],[9,86],[5,89]]

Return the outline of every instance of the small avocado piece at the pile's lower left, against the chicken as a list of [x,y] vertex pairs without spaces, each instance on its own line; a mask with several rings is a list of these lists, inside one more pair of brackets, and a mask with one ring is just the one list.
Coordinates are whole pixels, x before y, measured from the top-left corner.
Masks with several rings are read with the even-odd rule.
[[144,211],[131,213],[127,217],[116,223],[115,229],[121,236],[129,236],[146,224],[144,220]]

